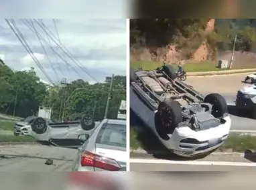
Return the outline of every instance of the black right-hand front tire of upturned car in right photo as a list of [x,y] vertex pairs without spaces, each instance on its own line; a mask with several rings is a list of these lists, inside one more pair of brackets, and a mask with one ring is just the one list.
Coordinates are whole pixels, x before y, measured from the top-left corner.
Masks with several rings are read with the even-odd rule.
[[227,102],[225,98],[218,93],[206,95],[204,103],[210,103],[212,105],[212,115],[216,118],[223,117],[223,115],[227,113]]

